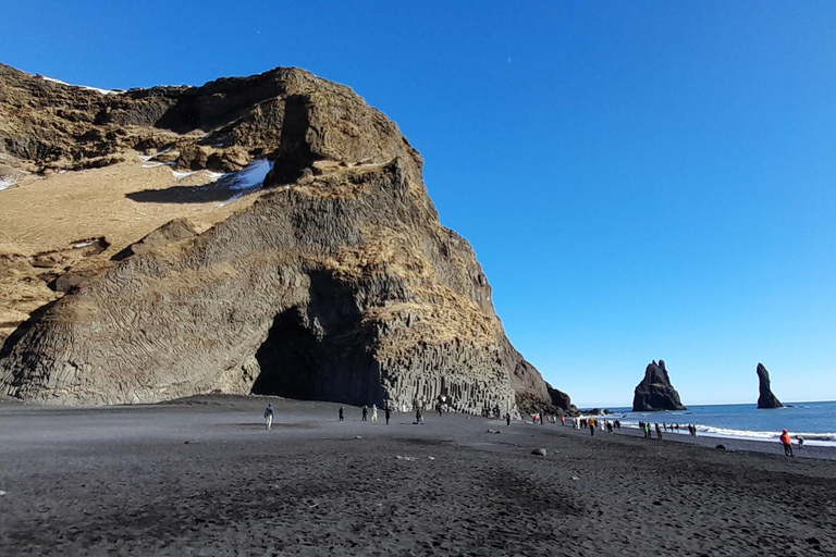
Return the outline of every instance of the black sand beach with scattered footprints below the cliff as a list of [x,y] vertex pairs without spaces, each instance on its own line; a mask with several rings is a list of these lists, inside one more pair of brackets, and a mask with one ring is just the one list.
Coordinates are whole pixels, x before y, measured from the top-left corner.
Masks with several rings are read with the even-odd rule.
[[0,403],[0,555],[836,555],[827,458],[266,400]]

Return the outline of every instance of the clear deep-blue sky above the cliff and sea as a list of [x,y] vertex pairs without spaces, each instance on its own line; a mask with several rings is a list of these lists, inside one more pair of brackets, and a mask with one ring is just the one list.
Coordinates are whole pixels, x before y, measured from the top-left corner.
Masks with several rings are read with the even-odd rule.
[[0,61],[109,88],[278,65],[426,160],[515,346],[583,406],[836,399],[836,3],[5,0]]

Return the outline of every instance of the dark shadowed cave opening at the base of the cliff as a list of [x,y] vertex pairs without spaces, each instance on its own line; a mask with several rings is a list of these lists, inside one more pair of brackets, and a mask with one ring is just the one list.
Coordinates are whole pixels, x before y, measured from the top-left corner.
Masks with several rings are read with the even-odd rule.
[[310,302],[279,313],[256,351],[253,394],[380,406],[380,369],[367,350],[373,336],[354,289],[329,272],[311,273],[310,282]]

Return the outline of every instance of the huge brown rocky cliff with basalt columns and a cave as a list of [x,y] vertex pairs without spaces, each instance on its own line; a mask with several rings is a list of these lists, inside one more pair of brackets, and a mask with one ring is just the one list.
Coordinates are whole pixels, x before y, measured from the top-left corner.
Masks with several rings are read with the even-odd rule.
[[[101,92],[0,66],[0,150],[17,172],[107,168],[135,150],[183,171],[272,164],[250,202],[208,230],[173,219],[133,245],[102,237],[112,257],[7,339],[9,394],[574,410],[506,338],[472,249],[439,224],[418,152],[347,87],[278,69]],[[126,197],[176,206],[207,189]]]

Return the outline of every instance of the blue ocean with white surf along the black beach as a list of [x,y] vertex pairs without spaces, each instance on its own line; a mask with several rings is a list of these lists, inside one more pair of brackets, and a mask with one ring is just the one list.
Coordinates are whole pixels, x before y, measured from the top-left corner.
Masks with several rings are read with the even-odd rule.
[[[759,410],[755,405],[689,406],[688,410],[634,412],[631,408],[610,408],[610,419],[622,425],[638,428],[640,421],[678,423],[697,426],[698,435],[777,442],[782,430],[797,435],[806,445],[836,446],[836,401],[785,403],[784,408]],[[688,430],[680,430],[687,435]]]

